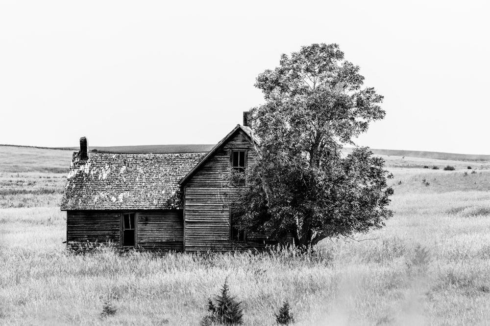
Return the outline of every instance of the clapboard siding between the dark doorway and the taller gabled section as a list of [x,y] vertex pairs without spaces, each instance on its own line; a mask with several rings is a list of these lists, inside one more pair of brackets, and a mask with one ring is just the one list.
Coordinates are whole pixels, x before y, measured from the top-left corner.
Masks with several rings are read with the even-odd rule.
[[182,210],[140,211],[136,216],[139,247],[150,251],[184,249]]

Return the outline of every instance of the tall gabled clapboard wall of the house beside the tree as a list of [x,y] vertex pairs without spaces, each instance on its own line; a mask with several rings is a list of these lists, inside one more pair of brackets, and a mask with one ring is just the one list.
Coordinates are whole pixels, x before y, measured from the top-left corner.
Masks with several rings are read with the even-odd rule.
[[232,150],[247,150],[247,164],[256,160],[256,152],[246,136],[237,132],[184,185],[185,250],[224,251],[257,247],[252,243],[230,242],[230,203],[240,191],[228,187]]

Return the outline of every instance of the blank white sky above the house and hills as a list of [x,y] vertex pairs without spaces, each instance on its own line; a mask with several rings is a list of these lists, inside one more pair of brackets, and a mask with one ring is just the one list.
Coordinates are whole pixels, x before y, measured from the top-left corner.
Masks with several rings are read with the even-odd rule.
[[255,78],[282,53],[338,43],[385,96],[357,144],[490,154],[489,14],[488,1],[0,0],[0,144],[214,144],[264,103]]

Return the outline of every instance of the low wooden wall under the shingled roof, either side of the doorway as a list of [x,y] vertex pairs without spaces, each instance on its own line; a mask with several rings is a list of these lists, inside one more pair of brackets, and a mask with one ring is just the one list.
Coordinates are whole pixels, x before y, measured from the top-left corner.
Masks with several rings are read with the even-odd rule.
[[[126,211],[124,211],[125,213]],[[67,243],[121,243],[123,211],[67,211]],[[150,251],[183,250],[182,210],[135,211],[137,247]]]

